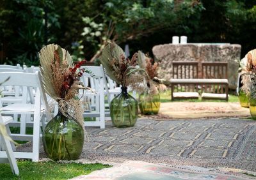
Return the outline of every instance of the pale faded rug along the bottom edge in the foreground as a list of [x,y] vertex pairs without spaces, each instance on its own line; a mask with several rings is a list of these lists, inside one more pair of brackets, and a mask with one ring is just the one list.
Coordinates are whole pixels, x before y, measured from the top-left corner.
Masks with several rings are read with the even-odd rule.
[[115,179],[115,180],[153,180],[153,179],[253,179],[244,174],[221,172],[215,169],[205,169],[188,166],[170,166],[143,161],[127,161],[119,166],[98,170],[88,175],[76,177],[74,179]]

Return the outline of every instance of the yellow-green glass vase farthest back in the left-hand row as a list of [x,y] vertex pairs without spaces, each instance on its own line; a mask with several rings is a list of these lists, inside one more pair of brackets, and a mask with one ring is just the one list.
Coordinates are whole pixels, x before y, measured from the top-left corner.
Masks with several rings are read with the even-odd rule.
[[150,91],[145,91],[139,96],[139,106],[141,114],[157,114],[160,109],[160,94],[150,94]]

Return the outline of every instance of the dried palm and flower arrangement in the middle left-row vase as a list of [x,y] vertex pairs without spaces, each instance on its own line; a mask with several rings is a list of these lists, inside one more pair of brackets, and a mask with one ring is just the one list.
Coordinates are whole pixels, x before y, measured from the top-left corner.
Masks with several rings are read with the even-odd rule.
[[123,87],[130,86],[131,89],[141,91],[145,89],[141,86],[145,70],[137,66],[137,60],[137,53],[129,59],[124,56],[124,50],[112,42],[106,44],[100,56],[100,62],[111,79]]

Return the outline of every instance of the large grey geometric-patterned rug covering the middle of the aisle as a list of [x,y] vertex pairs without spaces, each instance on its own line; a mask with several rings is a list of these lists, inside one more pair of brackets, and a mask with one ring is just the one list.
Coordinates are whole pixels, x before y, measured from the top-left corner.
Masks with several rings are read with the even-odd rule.
[[239,118],[139,119],[132,128],[86,128],[81,158],[229,167],[256,172],[256,121]]

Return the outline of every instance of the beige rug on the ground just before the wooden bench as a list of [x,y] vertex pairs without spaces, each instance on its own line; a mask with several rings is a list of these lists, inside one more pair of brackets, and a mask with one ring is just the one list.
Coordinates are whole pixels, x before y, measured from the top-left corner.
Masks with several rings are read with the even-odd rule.
[[159,115],[153,119],[195,119],[202,117],[249,117],[250,110],[239,103],[170,102],[161,103]]

